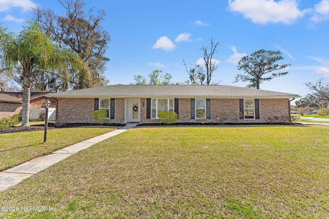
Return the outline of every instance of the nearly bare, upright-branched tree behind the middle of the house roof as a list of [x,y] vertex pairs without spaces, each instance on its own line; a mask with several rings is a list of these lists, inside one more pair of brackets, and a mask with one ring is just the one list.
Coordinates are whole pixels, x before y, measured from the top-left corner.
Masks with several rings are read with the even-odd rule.
[[[220,45],[219,42],[213,42],[213,39],[210,40],[210,50],[202,46],[200,48],[203,51],[203,61],[204,66],[198,64],[196,61],[194,63],[191,63],[193,68],[190,68],[190,70],[187,69],[187,65],[185,61],[183,60],[183,64],[185,65],[186,71],[189,74],[190,80],[192,84],[196,85],[215,85],[218,84],[217,82],[212,83],[211,77],[213,72],[218,67],[218,60],[212,58],[215,52],[217,52],[216,48]],[[205,81],[206,80],[206,81]]]

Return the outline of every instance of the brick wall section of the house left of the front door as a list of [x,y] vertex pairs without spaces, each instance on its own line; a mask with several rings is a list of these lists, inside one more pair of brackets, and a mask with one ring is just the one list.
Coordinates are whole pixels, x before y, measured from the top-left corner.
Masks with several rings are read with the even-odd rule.
[[[66,123],[95,123],[94,98],[58,98],[57,119]],[[107,123],[124,123],[124,98],[115,98],[114,119]]]

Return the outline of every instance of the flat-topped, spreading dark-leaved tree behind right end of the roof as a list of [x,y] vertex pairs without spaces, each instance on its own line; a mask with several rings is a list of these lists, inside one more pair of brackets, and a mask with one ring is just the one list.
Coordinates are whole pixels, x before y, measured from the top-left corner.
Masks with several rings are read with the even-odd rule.
[[284,69],[291,64],[277,64],[276,62],[284,59],[280,51],[258,50],[250,56],[244,56],[240,59],[237,70],[244,70],[244,74],[238,74],[234,82],[249,82],[249,88],[260,89],[260,84],[265,81],[270,81],[275,77],[281,77],[288,72],[272,73],[270,76],[265,74],[272,71]]

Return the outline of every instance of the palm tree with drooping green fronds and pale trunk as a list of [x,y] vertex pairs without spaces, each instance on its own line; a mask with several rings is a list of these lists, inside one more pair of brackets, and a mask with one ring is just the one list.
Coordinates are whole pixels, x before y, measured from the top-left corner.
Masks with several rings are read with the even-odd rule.
[[23,31],[15,34],[0,27],[0,72],[15,75],[23,88],[22,126],[29,126],[30,93],[34,74],[38,71],[85,71],[85,65],[76,54],[54,44],[39,24],[27,22]]

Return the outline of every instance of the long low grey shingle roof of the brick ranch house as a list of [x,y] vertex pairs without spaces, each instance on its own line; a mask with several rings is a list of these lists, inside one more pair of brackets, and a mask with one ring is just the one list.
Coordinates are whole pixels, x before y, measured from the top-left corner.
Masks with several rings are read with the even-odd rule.
[[49,93],[47,97],[180,97],[180,98],[299,98],[300,95],[227,85],[109,85],[105,87]]

